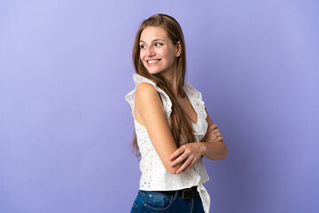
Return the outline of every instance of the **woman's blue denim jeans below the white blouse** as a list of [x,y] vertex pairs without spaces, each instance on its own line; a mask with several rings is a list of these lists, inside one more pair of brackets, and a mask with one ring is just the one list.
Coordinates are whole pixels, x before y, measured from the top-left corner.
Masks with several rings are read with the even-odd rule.
[[204,213],[203,204],[199,195],[190,199],[182,196],[155,193],[139,190],[130,213]]

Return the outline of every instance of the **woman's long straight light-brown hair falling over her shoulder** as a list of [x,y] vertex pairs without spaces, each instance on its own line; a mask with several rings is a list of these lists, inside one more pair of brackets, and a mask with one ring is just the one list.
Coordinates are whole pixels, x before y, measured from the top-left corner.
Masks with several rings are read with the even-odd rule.
[[[172,132],[173,138],[175,139],[176,146],[180,147],[180,141],[182,137],[186,140],[186,143],[195,141],[194,130],[190,117],[185,114],[181,106],[178,105],[177,99],[175,99],[174,93],[169,89],[165,78],[160,73],[150,74],[144,67],[143,62],[140,59],[140,36],[144,28],[147,28],[149,26],[163,28],[174,44],[176,44],[177,42],[181,43],[182,54],[177,57],[177,59],[175,59],[177,67],[176,85],[178,96],[184,98],[186,96],[185,91],[183,91],[184,78],[186,74],[186,51],[183,31],[181,26],[173,17],[166,14],[155,14],[142,22],[140,28],[138,28],[137,30],[136,38],[133,45],[133,62],[136,73],[156,83],[160,89],[167,93],[169,99],[172,102],[172,113],[169,117],[171,123],[170,130]],[[136,153],[136,157],[140,157],[135,131],[131,146],[133,148],[133,151]]]

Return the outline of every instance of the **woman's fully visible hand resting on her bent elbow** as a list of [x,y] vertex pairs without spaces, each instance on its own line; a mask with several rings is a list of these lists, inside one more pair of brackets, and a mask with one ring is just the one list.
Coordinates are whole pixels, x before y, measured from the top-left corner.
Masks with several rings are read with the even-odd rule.
[[176,171],[176,174],[181,173],[190,169],[195,163],[197,163],[204,153],[204,147],[201,142],[188,143],[179,147],[174,154],[169,157],[172,162],[171,166],[175,167],[180,162],[183,162],[183,165]]

